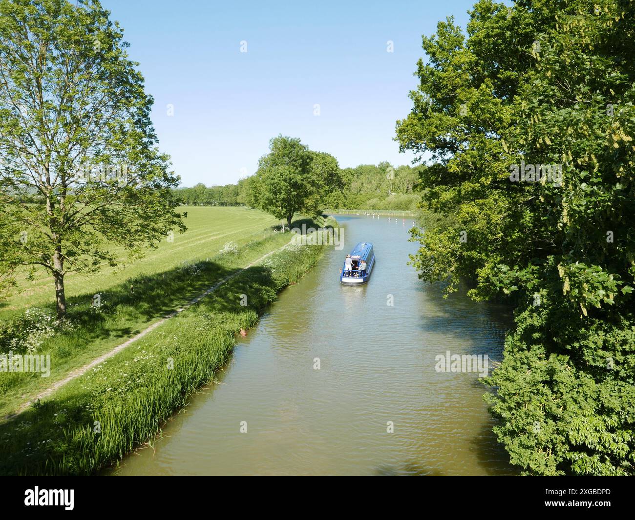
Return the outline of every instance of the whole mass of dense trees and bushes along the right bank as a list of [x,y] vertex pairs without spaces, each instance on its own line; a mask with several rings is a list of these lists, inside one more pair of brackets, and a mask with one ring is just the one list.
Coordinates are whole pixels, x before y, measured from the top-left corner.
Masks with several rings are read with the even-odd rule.
[[635,474],[635,5],[482,0],[451,18],[397,125],[430,153],[423,205],[445,221],[413,265],[513,295],[487,382],[495,432],[534,475]]

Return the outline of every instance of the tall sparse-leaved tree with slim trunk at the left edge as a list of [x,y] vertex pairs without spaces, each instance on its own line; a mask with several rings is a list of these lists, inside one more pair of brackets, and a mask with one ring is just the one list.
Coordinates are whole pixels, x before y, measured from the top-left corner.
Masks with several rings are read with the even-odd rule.
[[[0,0],[0,197],[20,229],[3,272],[64,276],[141,256],[177,226],[178,177],[157,151],[152,98],[98,1]],[[29,202],[27,202],[29,201]]]

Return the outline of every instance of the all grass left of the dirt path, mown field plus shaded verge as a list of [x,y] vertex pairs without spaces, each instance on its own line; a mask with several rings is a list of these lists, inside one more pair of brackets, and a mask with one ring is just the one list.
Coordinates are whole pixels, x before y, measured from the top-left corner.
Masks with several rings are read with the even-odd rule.
[[[184,207],[186,233],[165,241],[124,270],[105,268],[95,276],[67,278],[68,317],[55,316],[52,281],[20,283],[0,310],[0,353],[50,354],[51,372],[0,372],[0,421],[20,410],[77,368],[161,320],[219,280],[257,261],[290,240],[274,232],[276,219],[246,208]],[[236,249],[220,254],[227,242]],[[92,306],[100,294],[101,306]],[[28,310],[41,309],[34,317]],[[44,332],[42,332],[44,331]]]

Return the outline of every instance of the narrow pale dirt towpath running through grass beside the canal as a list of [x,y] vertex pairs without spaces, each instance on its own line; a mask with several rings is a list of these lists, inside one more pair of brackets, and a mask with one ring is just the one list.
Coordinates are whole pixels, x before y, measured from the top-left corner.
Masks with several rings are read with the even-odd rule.
[[197,296],[196,298],[190,300],[189,302],[187,302],[187,304],[185,304],[184,306],[182,306],[182,307],[178,308],[177,310],[173,311],[172,313],[170,313],[169,315],[165,316],[164,318],[161,318],[161,320],[159,320],[158,322],[152,323],[152,325],[150,325],[148,328],[145,328],[144,330],[139,332],[139,334],[137,334],[137,335],[131,337],[130,339],[124,341],[122,344],[117,345],[111,351],[103,354],[102,356],[99,356],[95,360],[93,360],[90,363],[88,363],[88,365],[84,365],[83,367],[76,368],[75,370],[72,370],[71,372],[69,372],[69,374],[64,379],[60,379],[59,381],[56,381],[50,387],[48,387],[46,390],[44,390],[43,392],[37,394],[37,396],[35,396],[35,398],[32,401],[28,401],[27,403],[24,403],[22,406],[20,406],[16,410],[16,412],[11,413],[11,415],[8,415],[8,416],[4,417],[4,419],[11,419],[11,417],[15,417],[16,415],[22,413],[24,410],[29,408],[29,406],[32,405],[32,403],[34,403],[34,401],[42,400],[44,398],[49,397],[55,391],[60,389],[60,387],[62,387],[65,384],[67,384],[67,382],[69,382],[70,380],[73,380],[76,377],[79,377],[80,375],[86,374],[86,372],[88,372],[88,370],[90,370],[91,368],[97,367],[97,365],[99,365],[100,363],[104,363],[104,361],[107,360],[108,358],[112,358],[112,356],[114,356],[115,354],[121,352],[124,348],[130,346],[132,343],[134,343],[138,339],[141,339],[142,337],[144,337],[149,332],[152,332],[152,330],[154,330],[155,328],[160,327],[161,325],[163,325],[163,323],[165,323],[170,318],[173,318],[174,316],[177,316],[178,314],[182,313],[185,309],[189,308],[190,306],[192,306],[195,303],[199,302],[204,297],[206,297],[209,294],[211,294],[211,292],[214,292],[216,289],[218,289],[218,287],[220,287],[220,285],[223,285],[223,283],[227,282],[227,280],[231,280],[232,278],[234,278],[234,276],[239,275],[244,270],[249,269],[250,267],[253,267],[256,264],[262,262],[268,256],[271,256],[272,254],[283,250],[285,247],[288,247],[288,245],[291,244],[291,242],[293,242],[293,240],[291,240],[287,244],[284,244],[283,247],[279,247],[278,249],[274,249],[272,251],[269,251],[267,254],[261,256],[260,258],[258,258],[257,260],[253,261],[251,264],[249,264],[248,266],[244,267],[243,269],[238,270],[238,271],[236,271],[235,273],[232,273],[229,276],[225,276],[225,278],[222,278],[222,280],[218,280],[218,282],[216,282],[209,289],[207,289],[205,292],[203,292],[203,294],[201,294],[201,295]]

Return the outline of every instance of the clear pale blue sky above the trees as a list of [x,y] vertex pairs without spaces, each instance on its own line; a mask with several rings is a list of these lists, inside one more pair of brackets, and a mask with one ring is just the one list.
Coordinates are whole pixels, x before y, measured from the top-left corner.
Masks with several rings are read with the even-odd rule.
[[465,27],[473,1],[102,4],[154,96],[161,150],[182,185],[211,186],[255,172],[277,134],[331,153],[341,167],[410,164],[392,138],[410,112],[421,36],[448,15]]

